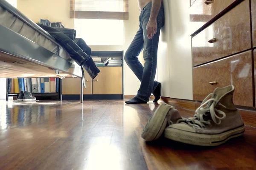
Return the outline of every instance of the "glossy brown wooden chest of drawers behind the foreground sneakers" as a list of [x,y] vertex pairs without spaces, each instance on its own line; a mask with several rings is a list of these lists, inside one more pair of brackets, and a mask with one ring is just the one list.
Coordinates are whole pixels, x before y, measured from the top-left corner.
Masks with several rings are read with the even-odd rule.
[[[202,101],[215,88],[234,85],[234,103],[255,107],[256,0],[209,0],[210,9],[196,6],[202,2],[196,0],[190,14],[195,17],[190,21],[204,22],[192,34],[193,99]],[[195,16],[195,8],[209,16]]]

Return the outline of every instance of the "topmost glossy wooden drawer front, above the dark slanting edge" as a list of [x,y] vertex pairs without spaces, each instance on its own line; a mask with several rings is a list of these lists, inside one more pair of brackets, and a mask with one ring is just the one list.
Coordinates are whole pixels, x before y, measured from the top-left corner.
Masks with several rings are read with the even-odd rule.
[[[212,0],[213,3],[208,5],[206,0],[191,0],[190,7],[190,23],[191,34],[197,31],[199,28],[208,23],[213,17],[224,11],[228,6],[234,3],[236,0]],[[241,1],[241,0],[240,0]]]

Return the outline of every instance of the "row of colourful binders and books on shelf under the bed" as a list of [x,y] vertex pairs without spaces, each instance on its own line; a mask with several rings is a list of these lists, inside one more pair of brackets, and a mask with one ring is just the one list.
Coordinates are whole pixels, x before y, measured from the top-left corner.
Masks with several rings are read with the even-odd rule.
[[18,78],[8,80],[9,94],[18,94],[20,91],[29,91],[32,94],[58,92],[59,78]]

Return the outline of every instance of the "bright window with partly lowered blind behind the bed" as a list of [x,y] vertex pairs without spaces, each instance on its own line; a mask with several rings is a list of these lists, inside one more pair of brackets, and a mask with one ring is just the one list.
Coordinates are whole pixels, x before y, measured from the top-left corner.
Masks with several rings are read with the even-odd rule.
[[128,0],[70,0],[77,37],[88,45],[123,45]]

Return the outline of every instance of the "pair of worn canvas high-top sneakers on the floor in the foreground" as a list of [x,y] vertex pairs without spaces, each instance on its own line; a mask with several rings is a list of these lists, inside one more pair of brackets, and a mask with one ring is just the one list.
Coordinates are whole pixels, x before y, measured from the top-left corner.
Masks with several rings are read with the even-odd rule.
[[167,139],[199,146],[217,146],[241,136],[244,122],[233,104],[234,90],[233,85],[216,88],[188,119],[182,119],[173,106],[162,103],[141,136],[145,141],[153,141],[164,133]]

